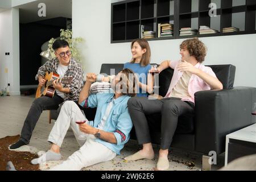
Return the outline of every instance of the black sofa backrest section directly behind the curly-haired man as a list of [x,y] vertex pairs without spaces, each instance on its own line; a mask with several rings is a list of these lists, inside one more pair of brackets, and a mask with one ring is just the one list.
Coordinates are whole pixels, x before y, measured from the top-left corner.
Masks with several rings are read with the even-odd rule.
[[[236,67],[232,64],[223,65],[207,65],[207,67],[212,68],[213,72],[216,74],[218,80],[221,81],[223,89],[233,88],[234,77],[236,73]],[[167,68],[159,74],[159,94],[165,96],[169,86],[171,84],[171,78],[174,75],[174,70]],[[164,81],[162,81],[164,80]]]

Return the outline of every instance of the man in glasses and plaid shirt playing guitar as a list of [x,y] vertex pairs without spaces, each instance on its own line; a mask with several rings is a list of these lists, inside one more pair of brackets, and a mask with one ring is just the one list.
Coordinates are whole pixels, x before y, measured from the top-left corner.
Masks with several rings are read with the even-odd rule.
[[43,110],[57,109],[64,101],[75,101],[78,104],[79,93],[83,86],[82,76],[84,72],[82,67],[71,57],[72,52],[69,49],[68,42],[65,40],[56,40],[52,44],[52,48],[55,50],[56,58],[47,61],[46,64],[39,68],[38,75],[35,77],[39,81],[39,85],[43,86],[45,84],[44,76],[46,72],[58,73],[60,78],[72,76],[73,80],[70,84],[65,85],[55,80],[53,81],[53,87],[56,92],[52,98],[47,96],[36,98],[24,121],[20,139],[11,145],[10,149],[19,148],[30,143],[32,132]]

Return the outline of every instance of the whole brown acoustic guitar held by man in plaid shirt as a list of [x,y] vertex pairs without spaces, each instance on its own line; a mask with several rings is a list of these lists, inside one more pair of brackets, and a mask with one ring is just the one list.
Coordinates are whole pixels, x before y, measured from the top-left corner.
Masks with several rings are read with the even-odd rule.
[[[38,89],[36,90],[36,98],[39,98],[41,96],[47,96],[47,97],[53,97],[55,93],[55,88],[52,86],[52,82],[54,80],[57,80],[57,78],[60,78],[60,75],[57,73],[48,73],[46,72],[46,76],[44,76],[44,80],[46,80],[46,83],[42,85],[38,85]],[[63,77],[60,78],[58,82],[61,82],[61,84],[70,84],[73,77]]]

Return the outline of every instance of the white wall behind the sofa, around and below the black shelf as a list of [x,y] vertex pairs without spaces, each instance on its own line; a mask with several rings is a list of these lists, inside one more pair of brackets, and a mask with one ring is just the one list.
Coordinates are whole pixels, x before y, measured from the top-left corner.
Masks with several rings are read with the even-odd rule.
[[[100,72],[102,63],[130,60],[130,43],[110,44],[111,1],[73,0],[73,35],[81,36],[86,72]],[[204,64],[233,64],[237,67],[235,86],[256,87],[256,34],[200,38],[208,47]],[[151,63],[179,59],[179,44],[184,39],[150,41]]]

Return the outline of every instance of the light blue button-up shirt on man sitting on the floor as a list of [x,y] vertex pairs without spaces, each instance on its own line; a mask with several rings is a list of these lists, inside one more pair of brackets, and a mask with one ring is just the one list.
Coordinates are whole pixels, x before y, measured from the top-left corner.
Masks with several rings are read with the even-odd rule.
[[[89,125],[97,127],[104,117],[106,108],[109,102],[114,98],[114,93],[98,93],[92,94],[87,100],[83,101],[80,105],[83,107],[97,107],[94,122],[90,121]],[[117,144],[105,142],[101,139],[96,139],[97,142],[104,144],[104,146],[110,148],[118,155],[120,151],[125,146],[130,138],[130,131],[133,127],[131,122],[131,117],[128,112],[127,101],[130,96],[121,96],[113,100],[113,107],[110,110],[109,117],[104,125],[104,131],[114,133],[117,139]]]

